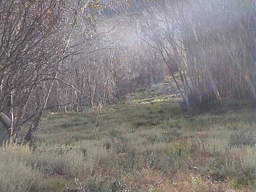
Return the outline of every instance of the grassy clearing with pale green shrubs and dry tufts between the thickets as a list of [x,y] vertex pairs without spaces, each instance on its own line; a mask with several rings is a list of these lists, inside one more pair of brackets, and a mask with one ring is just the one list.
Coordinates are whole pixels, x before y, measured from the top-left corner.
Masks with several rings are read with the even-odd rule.
[[33,145],[0,148],[0,191],[253,191],[253,103],[178,100],[167,81],[100,115],[45,115]]

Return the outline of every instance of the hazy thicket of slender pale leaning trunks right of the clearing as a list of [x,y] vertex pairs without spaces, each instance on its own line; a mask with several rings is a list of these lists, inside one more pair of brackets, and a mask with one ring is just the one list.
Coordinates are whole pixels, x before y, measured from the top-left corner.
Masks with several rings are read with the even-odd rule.
[[138,14],[140,33],[156,47],[167,66],[179,66],[182,97],[188,107],[222,98],[254,98],[252,1],[160,0],[144,4]]

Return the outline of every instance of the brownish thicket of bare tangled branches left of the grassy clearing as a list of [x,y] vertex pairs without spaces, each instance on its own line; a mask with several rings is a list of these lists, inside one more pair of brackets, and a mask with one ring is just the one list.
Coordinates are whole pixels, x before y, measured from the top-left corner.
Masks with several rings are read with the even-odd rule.
[[115,0],[0,2],[0,122],[11,142],[25,122],[30,140],[46,109],[83,111],[162,78],[154,72],[158,55],[121,41],[124,22],[102,12],[111,18],[128,7]]

